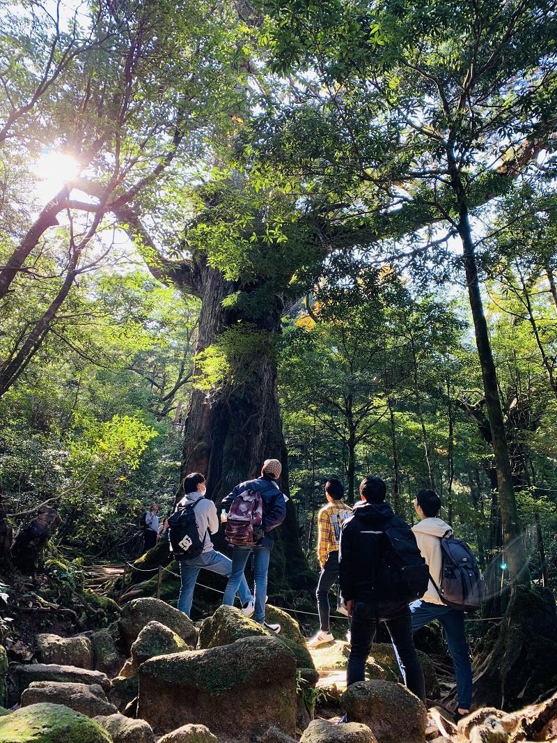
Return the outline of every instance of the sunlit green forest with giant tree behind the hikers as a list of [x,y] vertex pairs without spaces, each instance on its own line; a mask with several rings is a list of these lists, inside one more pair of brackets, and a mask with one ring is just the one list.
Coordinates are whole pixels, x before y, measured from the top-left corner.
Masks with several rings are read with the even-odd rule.
[[[555,614],[555,4],[0,17],[6,595],[137,558],[180,476],[218,504],[276,457],[278,600],[310,605],[326,478],[352,503],[373,473],[409,523],[437,491],[484,619],[517,585]],[[59,521],[33,562],[39,506]]]

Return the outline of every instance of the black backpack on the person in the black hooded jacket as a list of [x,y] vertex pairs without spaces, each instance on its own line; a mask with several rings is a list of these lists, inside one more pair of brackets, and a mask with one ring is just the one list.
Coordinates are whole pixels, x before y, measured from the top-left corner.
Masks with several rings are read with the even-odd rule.
[[382,549],[375,595],[378,601],[411,603],[426,593],[429,568],[408,526],[388,526],[382,531]]

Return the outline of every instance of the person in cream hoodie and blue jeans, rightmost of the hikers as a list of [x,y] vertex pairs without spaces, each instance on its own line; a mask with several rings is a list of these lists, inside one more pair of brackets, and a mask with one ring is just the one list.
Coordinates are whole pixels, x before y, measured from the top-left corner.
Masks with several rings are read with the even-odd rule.
[[[451,536],[452,528],[439,519],[437,514],[441,501],[433,490],[420,490],[414,501],[414,509],[421,521],[412,527],[422,557],[429,565],[429,574],[437,583],[441,582],[441,537]],[[464,632],[464,612],[452,609],[443,603],[437,589],[429,581],[428,589],[423,598],[410,605],[412,618],[412,632],[437,620],[445,631],[449,652],[455,666],[457,680],[458,713],[463,717],[470,711],[472,704],[472,666],[466,634]]]

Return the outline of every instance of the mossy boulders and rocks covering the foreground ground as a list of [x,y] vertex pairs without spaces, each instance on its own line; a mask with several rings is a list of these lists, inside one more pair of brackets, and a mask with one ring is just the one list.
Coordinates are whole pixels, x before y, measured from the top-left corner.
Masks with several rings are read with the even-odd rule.
[[[99,589],[117,565],[91,571]],[[368,680],[345,688],[349,647],[311,651],[299,625],[268,607],[281,635],[238,609],[193,623],[161,600],[126,603],[117,622],[72,637],[39,634],[30,663],[0,646],[0,743],[518,743],[557,740],[557,695],[518,713],[476,710],[457,725],[398,683],[377,643]],[[420,653],[428,697],[440,684]],[[336,724],[348,713],[349,724]]]

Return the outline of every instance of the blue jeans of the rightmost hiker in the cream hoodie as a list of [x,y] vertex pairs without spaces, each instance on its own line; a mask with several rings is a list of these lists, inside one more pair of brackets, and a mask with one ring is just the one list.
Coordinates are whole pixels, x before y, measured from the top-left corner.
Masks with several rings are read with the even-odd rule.
[[464,632],[464,612],[422,600],[411,603],[410,611],[412,632],[417,632],[434,619],[437,619],[445,630],[445,639],[455,666],[458,707],[460,710],[469,710],[472,704],[472,666]]

